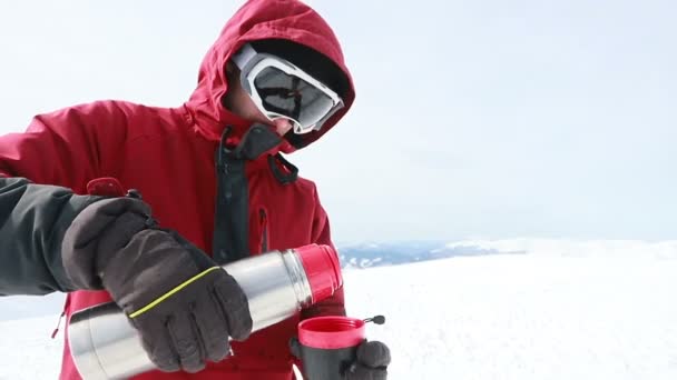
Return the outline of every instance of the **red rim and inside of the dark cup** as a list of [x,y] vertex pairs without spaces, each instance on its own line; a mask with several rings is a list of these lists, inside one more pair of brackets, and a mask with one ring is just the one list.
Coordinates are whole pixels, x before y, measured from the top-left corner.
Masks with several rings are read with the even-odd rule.
[[364,321],[352,317],[315,317],[298,323],[301,344],[317,349],[355,347],[364,340]]

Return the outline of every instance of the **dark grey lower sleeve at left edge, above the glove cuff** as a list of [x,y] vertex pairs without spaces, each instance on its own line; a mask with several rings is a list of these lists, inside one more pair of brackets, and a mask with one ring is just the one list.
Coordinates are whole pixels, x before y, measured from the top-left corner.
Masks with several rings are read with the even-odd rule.
[[98,197],[0,178],[0,296],[75,290],[61,262],[70,221]]

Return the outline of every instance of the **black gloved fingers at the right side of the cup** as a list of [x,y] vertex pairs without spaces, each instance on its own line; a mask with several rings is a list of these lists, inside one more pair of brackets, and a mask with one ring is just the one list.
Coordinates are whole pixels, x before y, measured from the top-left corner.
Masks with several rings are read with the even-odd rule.
[[346,380],[385,380],[390,350],[380,341],[364,341],[357,347],[357,358],[346,370]]

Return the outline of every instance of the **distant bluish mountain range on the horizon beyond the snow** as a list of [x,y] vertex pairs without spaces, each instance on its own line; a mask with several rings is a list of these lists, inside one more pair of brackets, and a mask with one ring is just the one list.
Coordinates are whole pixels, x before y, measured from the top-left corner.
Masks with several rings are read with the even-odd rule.
[[524,251],[499,251],[478,246],[418,241],[396,243],[337,244],[342,268],[372,268],[409,262],[485,254],[521,254]]

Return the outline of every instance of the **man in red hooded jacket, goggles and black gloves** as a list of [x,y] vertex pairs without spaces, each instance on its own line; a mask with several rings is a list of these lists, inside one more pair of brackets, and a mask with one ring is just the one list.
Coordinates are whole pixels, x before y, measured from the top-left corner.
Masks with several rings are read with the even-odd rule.
[[[340,43],[315,11],[252,0],[183,106],[98,101],[0,137],[0,296],[65,291],[68,317],[110,300],[138,314],[130,321],[159,370],[137,379],[293,379],[296,324],[344,314],[343,290],[252,333],[246,296],[209,269],[332,244],[314,183],[282,153],[324,136],[354,97]],[[384,344],[357,353],[347,379],[385,379]],[[61,379],[78,378],[65,344]]]

